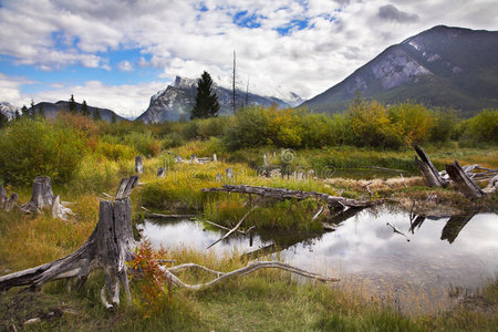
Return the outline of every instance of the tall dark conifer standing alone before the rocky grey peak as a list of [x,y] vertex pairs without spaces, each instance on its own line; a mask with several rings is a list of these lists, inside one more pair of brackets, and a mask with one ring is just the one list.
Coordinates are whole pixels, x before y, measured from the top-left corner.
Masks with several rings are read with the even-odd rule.
[[212,92],[211,76],[207,72],[204,72],[197,81],[196,104],[190,112],[190,118],[217,116],[218,111],[218,96]]

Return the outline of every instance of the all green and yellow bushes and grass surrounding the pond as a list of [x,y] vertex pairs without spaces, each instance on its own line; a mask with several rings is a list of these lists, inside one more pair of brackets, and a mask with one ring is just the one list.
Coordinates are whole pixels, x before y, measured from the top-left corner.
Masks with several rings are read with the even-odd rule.
[[[151,212],[196,215],[231,229],[257,207],[240,230],[255,226],[300,234],[323,232],[323,222],[338,217],[329,209],[319,214],[322,205],[312,198],[277,200],[201,190],[225,184],[383,200],[417,216],[460,216],[469,209],[496,214],[496,194],[473,200],[452,187],[427,187],[411,144],[423,144],[439,170],[454,159],[497,168],[497,128],[494,110],[458,120],[421,105],[386,108],[363,101],[335,117],[249,107],[231,117],[160,125],[107,124],[73,114],[52,122],[22,118],[0,132],[0,185],[25,204],[34,177],[50,176],[54,193],[71,203],[75,216],[64,221],[46,210],[30,215],[0,210],[0,274],[75,251],[98,220],[100,200],[113,194],[121,178],[135,173],[137,155],[143,156],[144,172],[131,201],[138,229]],[[189,162],[191,155],[214,154],[217,162]],[[178,156],[186,162],[177,163]],[[157,177],[159,167],[164,177]],[[227,176],[227,168],[232,176]],[[138,239],[138,232],[135,236]],[[221,255],[194,249],[188,242],[168,247],[167,238],[159,252],[146,239],[142,243],[145,247],[137,251],[142,258],[160,256],[174,264],[195,262],[219,271],[241,268],[252,259],[237,250]],[[335,273],[326,267],[321,272]],[[179,276],[191,283],[212,279],[203,271]],[[95,272],[79,289],[69,281],[48,283],[38,292],[10,289],[1,295],[0,321],[3,329],[12,329],[40,319],[24,325],[27,330],[486,331],[498,325],[496,280],[489,276],[479,290],[466,295],[465,290],[448,289],[458,292],[458,301],[445,310],[415,313],[401,309],[394,293],[380,294],[347,277],[334,284],[303,283],[287,272],[263,270],[199,292],[166,284],[160,293],[147,291],[146,279],[135,279],[133,301],[107,312],[98,299],[104,276]],[[417,295],[404,301],[417,301]]]

